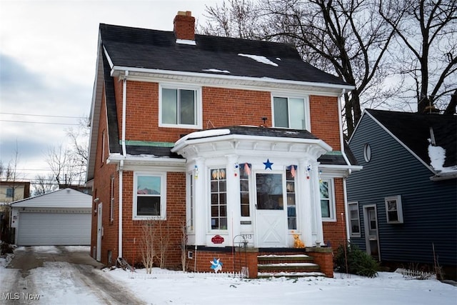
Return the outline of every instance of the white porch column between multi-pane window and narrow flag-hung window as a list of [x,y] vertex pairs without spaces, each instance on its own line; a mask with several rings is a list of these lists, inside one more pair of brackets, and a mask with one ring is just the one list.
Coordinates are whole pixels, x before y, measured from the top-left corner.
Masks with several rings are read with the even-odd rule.
[[[230,154],[227,158],[227,222],[229,229],[229,245],[233,245],[233,237],[240,234],[240,184],[239,171],[235,168],[238,163],[238,156]],[[235,176],[236,174],[236,176]],[[237,195],[238,194],[238,195]]]

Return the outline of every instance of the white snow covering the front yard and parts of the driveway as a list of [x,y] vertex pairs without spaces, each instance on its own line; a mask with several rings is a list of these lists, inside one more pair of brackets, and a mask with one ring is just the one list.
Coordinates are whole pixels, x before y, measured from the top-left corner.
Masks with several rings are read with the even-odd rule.
[[[52,251],[52,248],[35,247],[34,251]],[[87,251],[89,253],[89,247]],[[8,276],[14,272],[4,269],[5,264],[6,260],[0,259],[0,296],[4,293],[1,287],[8,286]],[[43,298],[33,304],[49,304],[46,295],[54,296],[53,304],[104,304],[97,303],[93,296],[84,296],[84,284],[71,281],[71,274],[59,266],[46,264],[34,270],[31,276],[40,275],[46,280],[41,287],[36,287]],[[145,304],[155,305],[457,304],[456,286],[431,279],[408,279],[389,272],[379,272],[374,279],[338,273],[333,279],[239,279],[227,274],[191,274],[163,269],[153,269],[152,274],[146,274],[144,269],[134,273],[122,269],[96,272],[121,284]]]

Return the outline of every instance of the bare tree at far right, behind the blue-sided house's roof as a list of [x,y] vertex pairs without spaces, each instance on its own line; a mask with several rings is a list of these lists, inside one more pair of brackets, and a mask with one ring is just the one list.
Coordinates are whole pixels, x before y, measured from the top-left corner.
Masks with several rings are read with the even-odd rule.
[[[417,111],[446,109],[457,89],[457,1],[381,0],[379,13],[396,32],[398,71]],[[454,106],[455,108],[455,106]],[[454,109],[455,112],[455,109]]]

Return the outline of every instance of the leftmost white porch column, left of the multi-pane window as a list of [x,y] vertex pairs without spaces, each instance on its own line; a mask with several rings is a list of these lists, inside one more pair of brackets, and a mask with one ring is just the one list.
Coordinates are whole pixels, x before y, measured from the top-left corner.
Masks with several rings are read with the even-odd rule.
[[[206,166],[203,158],[195,159],[194,168],[194,179],[195,181],[195,244],[205,245],[206,244],[206,231],[208,231],[208,215],[207,207],[209,206],[206,202],[207,194],[207,179]],[[196,174],[197,171],[197,174]]]

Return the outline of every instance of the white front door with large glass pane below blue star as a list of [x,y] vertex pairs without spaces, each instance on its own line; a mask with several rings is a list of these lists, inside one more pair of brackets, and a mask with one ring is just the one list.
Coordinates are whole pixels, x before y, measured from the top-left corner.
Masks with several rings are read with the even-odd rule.
[[256,239],[259,247],[287,246],[282,174],[256,174]]

